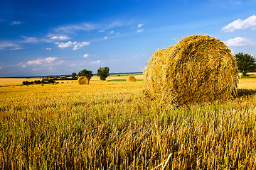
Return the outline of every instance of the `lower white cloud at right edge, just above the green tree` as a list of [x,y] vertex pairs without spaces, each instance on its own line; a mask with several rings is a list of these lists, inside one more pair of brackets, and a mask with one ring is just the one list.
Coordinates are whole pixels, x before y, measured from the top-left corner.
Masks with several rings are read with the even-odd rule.
[[247,45],[256,45],[256,42],[246,38],[237,37],[237,38],[225,41],[225,45],[229,47],[242,47]]

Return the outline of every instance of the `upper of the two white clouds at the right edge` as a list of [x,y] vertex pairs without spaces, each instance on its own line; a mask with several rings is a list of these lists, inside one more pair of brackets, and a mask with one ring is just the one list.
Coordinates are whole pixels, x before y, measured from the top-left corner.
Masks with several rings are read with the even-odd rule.
[[244,30],[250,28],[251,30],[256,30],[256,16],[252,15],[246,18],[244,21],[241,19],[235,20],[228,26],[223,27],[221,30],[225,32],[233,32],[234,30]]

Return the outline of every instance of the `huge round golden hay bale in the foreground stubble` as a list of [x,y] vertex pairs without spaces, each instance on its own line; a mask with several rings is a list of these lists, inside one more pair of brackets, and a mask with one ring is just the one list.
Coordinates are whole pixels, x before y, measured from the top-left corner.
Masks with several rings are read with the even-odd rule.
[[164,106],[224,101],[237,96],[238,66],[230,49],[208,35],[183,38],[154,53],[144,70],[144,92]]

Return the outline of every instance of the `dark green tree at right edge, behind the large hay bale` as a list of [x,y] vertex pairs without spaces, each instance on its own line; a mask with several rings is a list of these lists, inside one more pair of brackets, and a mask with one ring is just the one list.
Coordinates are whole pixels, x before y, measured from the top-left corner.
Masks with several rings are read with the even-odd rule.
[[235,61],[238,62],[238,70],[242,72],[242,76],[247,76],[247,72],[251,72],[256,69],[256,60],[252,55],[239,52],[235,55]]

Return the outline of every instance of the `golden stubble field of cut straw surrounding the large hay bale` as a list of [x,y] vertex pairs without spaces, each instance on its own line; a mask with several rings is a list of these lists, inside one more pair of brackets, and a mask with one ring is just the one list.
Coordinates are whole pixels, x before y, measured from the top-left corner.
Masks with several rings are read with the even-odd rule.
[[171,110],[143,81],[1,85],[0,169],[255,169],[255,85]]

